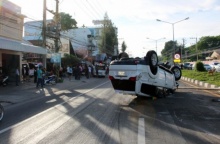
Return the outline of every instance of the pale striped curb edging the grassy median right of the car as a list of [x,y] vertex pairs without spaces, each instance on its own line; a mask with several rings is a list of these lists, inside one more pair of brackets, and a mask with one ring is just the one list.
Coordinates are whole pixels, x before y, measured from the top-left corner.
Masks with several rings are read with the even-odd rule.
[[194,79],[183,77],[183,76],[181,77],[181,80],[193,83],[195,85],[198,85],[198,86],[201,86],[201,87],[204,87],[204,88],[207,88],[207,89],[217,89],[217,90],[220,90],[219,86],[216,86],[216,85],[213,85],[213,84],[209,84],[207,82],[203,82],[203,81],[199,81],[199,80],[194,80]]

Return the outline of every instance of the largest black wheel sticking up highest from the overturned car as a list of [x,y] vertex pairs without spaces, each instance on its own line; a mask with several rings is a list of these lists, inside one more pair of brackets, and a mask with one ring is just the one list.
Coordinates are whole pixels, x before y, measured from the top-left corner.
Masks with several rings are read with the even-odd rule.
[[156,75],[157,67],[158,67],[157,53],[153,50],[148,51],[146,54],[145,60],[146,60],[146,63],[150,66],[151,73]]

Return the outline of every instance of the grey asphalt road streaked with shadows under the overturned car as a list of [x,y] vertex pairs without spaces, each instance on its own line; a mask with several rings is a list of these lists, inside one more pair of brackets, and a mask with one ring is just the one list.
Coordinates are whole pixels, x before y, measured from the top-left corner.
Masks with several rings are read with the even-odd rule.
[[8,106],[0,143],[218,144],[218,96],[181,82],[167,98],[137,98],[94,79]]

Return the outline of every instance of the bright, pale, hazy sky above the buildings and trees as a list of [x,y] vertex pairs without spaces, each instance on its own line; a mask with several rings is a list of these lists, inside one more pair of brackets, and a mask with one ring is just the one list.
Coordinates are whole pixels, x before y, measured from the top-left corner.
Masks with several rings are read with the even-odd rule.
[[[10,1],[21,7],[25,21],[43,19],[43,0]],[[47,8],[55,11],[55,0],[47,0]],[[161,55],[173,33],[174,40],[182,44],[184,39],[186,46],[195,44],[195,38],[220,35],[219,0],[59,0],[59,12],[70,14],[78,27],[97,27],[92,21],[107,13],[118,28],[119,49],[124,41],[133,57],[148,50]],[[52,16],[47,12],[47,19]]]

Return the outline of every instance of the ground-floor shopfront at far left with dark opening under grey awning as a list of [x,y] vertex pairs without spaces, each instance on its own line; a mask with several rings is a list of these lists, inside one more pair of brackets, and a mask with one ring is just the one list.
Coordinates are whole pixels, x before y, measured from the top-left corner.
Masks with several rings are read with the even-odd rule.
[[16,67],[19,67],[21,74],[22,58],[25,53],[39,54],[42,63],[46,66],[47,50],[45,48],[0,37],[0,69],[9,76],[9,81],[15,81]]

